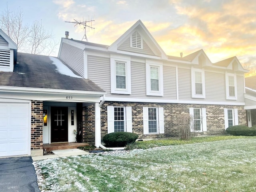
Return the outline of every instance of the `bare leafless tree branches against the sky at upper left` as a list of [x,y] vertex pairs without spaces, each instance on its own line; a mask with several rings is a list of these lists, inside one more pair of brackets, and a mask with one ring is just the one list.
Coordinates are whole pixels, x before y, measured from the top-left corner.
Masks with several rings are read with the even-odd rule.
[[17,44],[19,52],[50,55],[58,43],[52,33],[42,26],[42,21],[35,21],[32,26],[23,24],[23,12],[20,9],[11,12],[6,10],[0,15],[0,27]]

